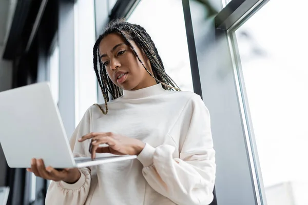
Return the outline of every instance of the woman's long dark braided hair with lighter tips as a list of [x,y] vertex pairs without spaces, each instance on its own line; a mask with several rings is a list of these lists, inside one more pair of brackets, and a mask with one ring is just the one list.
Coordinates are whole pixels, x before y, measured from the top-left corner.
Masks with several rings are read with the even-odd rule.
[[[165,68],[162,59],[158,54],[157,48],[155,47],[155,44],[153,43],[151,37],[145,31],[145,29],[140,25],[130,24],[128,22],[125,22],[125,19],[123,18],[111,20],[111,22],[105,28],[104,33],[99,36],[99,38],[97,39],[97,41],[93,46],[94,71],[97,76],[99,86],[102,90],[102,94],[104,96],[105,110],[98,104],[94,105],[97,105],[104,114],[108,113],[108,106],[107,106],[107,101],[109,101],[108,92],[112,95],[113,99],[121,97],[123,95],[123,90],[118,86],[114,85],[111,79],[108,77],[105,65],[103,65],[99,53],[99,45],[102,39],[111,33],[118,33],[124,38],[128,46],[130,46],[130,48],[132,49],[134,55],[136,55],[139,62],[144,67],[144,69],[149,73],[151,77],[156,79],[157,83],[161,83],[162,87],[165,90],[180,91],[180,88],[177,86],[175,81],[172,80],[170,76],[167,75],[167,73],[165,72]],[[144,51],[145,55],[150,61],[153,74],[151,74],[149,70],[144,66],[144,63],[140,59],[139,55],[137,54],[136,50],[131,45],[129,40],[132,40],[141,50]]]

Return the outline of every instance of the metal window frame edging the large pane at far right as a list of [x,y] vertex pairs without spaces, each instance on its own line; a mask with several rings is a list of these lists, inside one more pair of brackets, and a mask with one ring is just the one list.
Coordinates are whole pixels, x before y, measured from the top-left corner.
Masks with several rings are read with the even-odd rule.
[[[235,89],[242,118],[242,129],[246,141],[246,154],[251,170],[255,204],[266,205],[265,189],[262,180],[253,123],[245,90],[240,54],[235,31],[261,9],[269,0],[232,0],[215,17],[215,27],[222,30],[227,40],[229,56],[234,71]],[[218,36],[217,36],[218,37]]]

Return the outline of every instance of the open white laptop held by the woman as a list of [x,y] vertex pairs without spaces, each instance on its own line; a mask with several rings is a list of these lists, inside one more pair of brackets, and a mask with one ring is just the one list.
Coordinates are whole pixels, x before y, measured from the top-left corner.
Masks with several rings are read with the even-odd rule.
[[42,158],[46,167],[56,169],[136,158],[111,154],[74,158],[49,83],[0,92],[0,142],[11,168],[30,168],[32,158]]

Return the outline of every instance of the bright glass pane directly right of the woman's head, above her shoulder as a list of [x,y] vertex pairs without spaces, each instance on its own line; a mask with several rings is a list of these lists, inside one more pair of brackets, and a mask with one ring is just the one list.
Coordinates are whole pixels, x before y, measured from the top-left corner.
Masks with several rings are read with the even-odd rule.
[[149,33],[167,74],[175,80],[180,89],[194,91],[182,1],[141,1],[127,21],[141,25]]

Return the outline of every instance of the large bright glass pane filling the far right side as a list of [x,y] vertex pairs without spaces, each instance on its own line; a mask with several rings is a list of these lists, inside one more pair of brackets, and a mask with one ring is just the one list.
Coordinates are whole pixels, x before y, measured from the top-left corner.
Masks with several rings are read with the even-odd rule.
[[235,32],[268,205],[308,204],[307,6],[269,1]]

